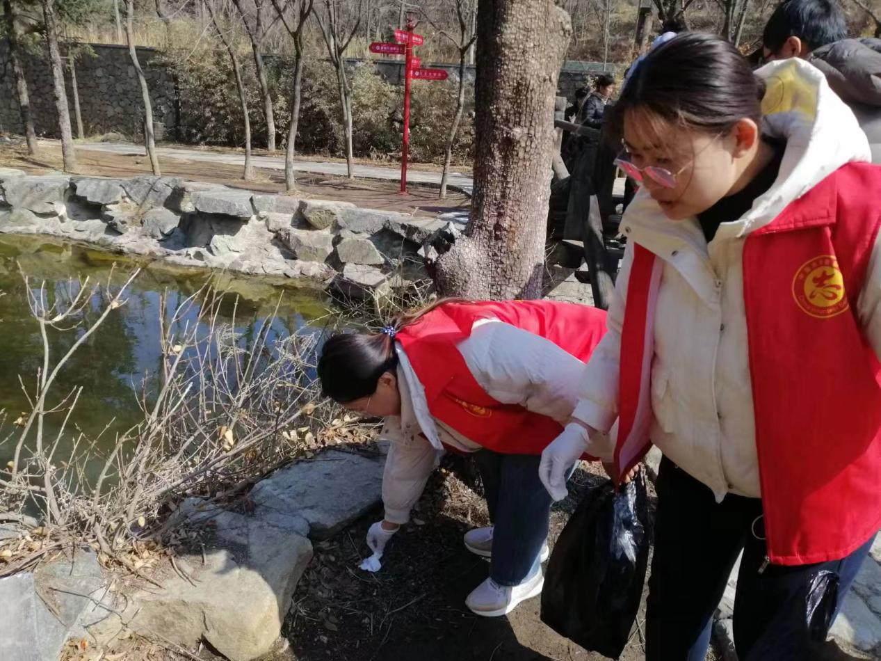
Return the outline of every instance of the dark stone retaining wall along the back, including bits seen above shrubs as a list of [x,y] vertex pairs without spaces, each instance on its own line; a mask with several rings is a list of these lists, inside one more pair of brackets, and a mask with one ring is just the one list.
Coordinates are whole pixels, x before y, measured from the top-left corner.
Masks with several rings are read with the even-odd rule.
[[[77,63],[77,82],[79,103],[82,108],[83,124],[87,136],[105,133],[122,133],[125,137],[139,139],[142,133],[141,89],[137,83],[135,68],[129,59],[128,48],[107,44],[93,44],[92,53],[85,55]],[[160,62],[161,53],[153,48],[137,48],[138,60],[144,68],[153,106],[153,122],[156,123],[157,137],[174,140],[178,128],[186,121],[193,123],[198,115],[181,119],[181,103],[178,99],[174,75]],[[267,56],[272,59],[275,56]],[[361,60],[350,59],[353,67]],[[55,100],[52,92],[52,71],[45,53],[25,56],[25,75],[31,95],[31,108],[38,135],[57,137],[58,128],[55,116]],[[376,71],[390,83],[403,83],[403,62],[393,60],[374,61]],[[459,75],[457,64],[425,63],[425,66],[445,69],[451,78]],[[567,61],[559,75],[558,95],[574,99],[575,89],[589,82],[597,73],[618,71],[616,65],[604,67],[602,63]],[[473,85],[475,67],[470,66],[466,79]],[[70,105],[70,125],[76,136],[76,120],[73,116],[73,95],[70,87],[70,71],[65,71]],[[11,77],[8,50],[5,41],[0,41],[0,132],[23,132],[19,115],[19,103]]]

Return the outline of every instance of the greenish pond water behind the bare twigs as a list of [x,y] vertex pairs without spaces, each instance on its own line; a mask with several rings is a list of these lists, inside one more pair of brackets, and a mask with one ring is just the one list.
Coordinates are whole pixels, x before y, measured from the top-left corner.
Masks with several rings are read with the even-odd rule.
[[[9,434],[12,420],[30,411],[21,382],[33,392],[43,360],[41,334],[30,314],[22,272],[31,280],[32,290],[45,282],[51,300],[54,293],[69,286],[71,279],[88,277],[90,286],[106,285],[108,279],[116,286],[122,285],[136,266],[143,271],[127,290],[126,303],[78,349],[57,377],[49,397],[50,402],[57,402],[82,386],[70,422],[92,438],[112,423],[101,435],[108,445],[114,442],[115,430],[121,431],[143,418],[137,408],[136,388],[145,373],[155,373],[161,366],[159,315],[163,295],[167,297],[168,317],[179,303],[210,281],[226,292],[218,321],[232,323],[234,318],[235,328],[246,342],[273,314],[270,342],[304,327],[307,330],[314,326],[318,331],[331,308],[324,293],[292,286],[290,281],[137,261],[46,237],[0,235],[0,410],[7,413],[0,438]],[[98,316],[101,308],[100,296],[94,295],[85,308],[86,318]],[[197,316],[198,308],[193,306],[184,321],[193,322]],[[78,331],[48,333],[50,366],[77,337]],[[73,427],[69,429],[73,431]],[[12,446],[9,442],[0,445],[0,466],[5,467],[10,460]]]

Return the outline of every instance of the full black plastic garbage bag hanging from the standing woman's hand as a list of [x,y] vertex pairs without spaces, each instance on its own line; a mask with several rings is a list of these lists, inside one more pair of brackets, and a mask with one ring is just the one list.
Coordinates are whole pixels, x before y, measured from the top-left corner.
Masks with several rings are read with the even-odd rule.
[[544,575],[542,621],[585,650],[618,658],[640,608],[648,564],[646,482],[611,480],[575,509]]

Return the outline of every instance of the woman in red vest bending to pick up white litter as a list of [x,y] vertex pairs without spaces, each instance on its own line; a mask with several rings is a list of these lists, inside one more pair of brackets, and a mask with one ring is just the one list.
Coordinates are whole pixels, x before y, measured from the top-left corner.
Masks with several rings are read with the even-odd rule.
[[552,501],[539,456],[572,413],[582,361],[604,331],[596,308],[445,300],[374,335],[329,338],[318,361],[324,393],[383,417],[391,441],[385,517],[367,533],[374,560],[409,520],[440,453],[473,453],[493,525],[465,535],[471,552],[491,558],[490,577],[465,603],[503,615],[541,592]]

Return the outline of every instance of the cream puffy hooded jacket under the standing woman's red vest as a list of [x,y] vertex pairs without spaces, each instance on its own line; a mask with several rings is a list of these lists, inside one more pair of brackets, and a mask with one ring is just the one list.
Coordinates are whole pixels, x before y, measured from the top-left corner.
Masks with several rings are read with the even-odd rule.
[[[771,222],[788,204],[850,161],[870,160],[869,145],[854,114],[811,64],[791,59],[759,72],[772,104],[766,133],[786,140],[774,185],[749,212],[723,223],[707,241],[697,219],[670,220],[645,192],[627,208],[621,227],[631,240],[625,252],[609,332],[589,360],[573,417],[608,431],[618,417],[618,357],[627,280],[636,241],[663,259],[655,310],[652,360],[651,440],[680,468],[725,494],[760,495],[750,368],[744,311],[744,239]],[[775,80],[795,81],[803,93],[781,94]],[[796,109],[791,109],[795,104]],[[783,107],[785,106],[785,107]],[[881,196],[881,191],[865,191]],[[881,250],[876,243],[857,316],[881,356]],[[781,351],[785,347],[781,346]],[[830,439],[834,442],[834,439]],[[588,451],[611,457],[604,439]]]

